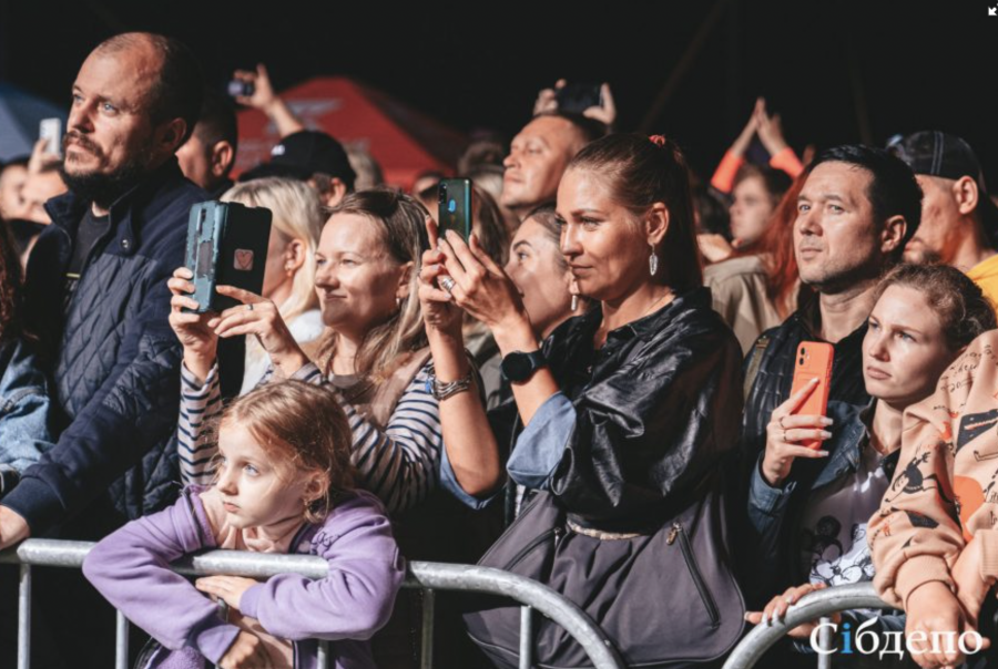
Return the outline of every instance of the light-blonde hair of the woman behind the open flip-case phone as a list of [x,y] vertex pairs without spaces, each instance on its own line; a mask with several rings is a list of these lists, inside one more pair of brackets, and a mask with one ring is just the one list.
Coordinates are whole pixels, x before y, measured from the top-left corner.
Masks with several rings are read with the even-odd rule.
[[292,320],[318,308],[315,292],[315,249],[323,233],[325,216],[315,189],[289,178],[266,177],[236,184],[225,192],[222,202],[237,202],[247,207],[266,207],[273,214],[271,225],[284,241],[298,239],[305,248],[305,264],[295,272],[291,297],[277,305],[281,316]]

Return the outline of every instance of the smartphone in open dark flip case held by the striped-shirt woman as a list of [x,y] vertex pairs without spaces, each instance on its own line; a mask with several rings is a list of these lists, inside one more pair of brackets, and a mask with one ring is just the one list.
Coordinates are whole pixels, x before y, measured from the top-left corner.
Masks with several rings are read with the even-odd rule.
[[218,295],[217,286],[235,286],[259,295],[271,240],[271,210],[234,202],[203,202],[191,207],[187,222],[187,269],[194,272],[198,313],[241,303]]

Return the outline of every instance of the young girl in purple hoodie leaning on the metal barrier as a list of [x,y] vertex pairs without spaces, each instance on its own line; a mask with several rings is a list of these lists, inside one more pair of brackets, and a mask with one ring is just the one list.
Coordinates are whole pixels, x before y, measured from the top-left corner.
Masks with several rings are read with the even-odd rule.
[[[388,620],[405,568],[380,502],[353,490],[350,441],[333,393],[299,381],[259,388],[221,419],[213,486],[186,488],[91,550],[86,578],[161,645],[144,668],[310,669],[316,638],[333,641],[337,669],[375,668],[367,639]],[[205,548],[318,555],[329,574],[192,585],[170,569]]]

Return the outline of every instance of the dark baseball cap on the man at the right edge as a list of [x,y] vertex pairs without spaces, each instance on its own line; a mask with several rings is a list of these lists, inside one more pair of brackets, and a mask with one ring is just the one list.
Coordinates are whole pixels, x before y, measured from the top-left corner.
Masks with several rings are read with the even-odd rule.
[[896,136],[887,148],[915,174],[958,179],[969,176],[977,183],[980,218],[988,237],[998,238],[998,207],[988,197],[980,162],[970,145],[961,137],[937,130],[926,130],[905,137]]

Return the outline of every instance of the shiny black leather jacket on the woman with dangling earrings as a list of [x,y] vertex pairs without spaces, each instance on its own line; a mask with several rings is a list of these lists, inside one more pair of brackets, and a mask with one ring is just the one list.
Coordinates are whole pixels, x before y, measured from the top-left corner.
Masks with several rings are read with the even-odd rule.
[[706,288],[609,333],[599,308],[562,323],[544,353],[577,420],[551,491],[572,519],[610,532],[685,507],[739,436],[741,348]]

